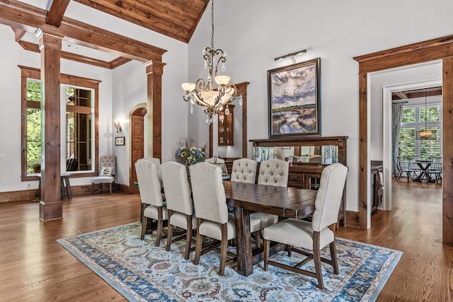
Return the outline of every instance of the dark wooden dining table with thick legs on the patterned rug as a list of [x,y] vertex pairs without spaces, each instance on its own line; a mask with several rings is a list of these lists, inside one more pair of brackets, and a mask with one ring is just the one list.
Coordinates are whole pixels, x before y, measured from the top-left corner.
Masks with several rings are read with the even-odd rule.
[[[234,207],[237,272],[248,276],[253,273],[253,265],[263,260],[263,249],[252,249],[250,213],[260,211],[284,218],[302,219],[313,213],[317,191],[226,180],[223,183],[226,204]],[[273,245],[271,255],[282,248],[282,245]]]

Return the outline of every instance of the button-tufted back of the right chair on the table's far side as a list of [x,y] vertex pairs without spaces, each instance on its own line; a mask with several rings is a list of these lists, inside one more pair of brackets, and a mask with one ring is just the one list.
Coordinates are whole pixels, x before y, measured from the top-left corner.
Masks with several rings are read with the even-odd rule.
[[289,163],[278,158],[269,159],[260,163],[258,185],[275,185],[287,187]]

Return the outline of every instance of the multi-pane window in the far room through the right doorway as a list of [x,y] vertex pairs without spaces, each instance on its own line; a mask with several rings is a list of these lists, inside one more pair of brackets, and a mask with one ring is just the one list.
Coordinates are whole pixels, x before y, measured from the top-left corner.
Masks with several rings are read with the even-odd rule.
[[[442,157],[442,106],[440,104],[411,105],[403,108],[401,132],[398,140],[398,156],[428,159]],[[437,139],[415,139],[420,130],[437,131]]]

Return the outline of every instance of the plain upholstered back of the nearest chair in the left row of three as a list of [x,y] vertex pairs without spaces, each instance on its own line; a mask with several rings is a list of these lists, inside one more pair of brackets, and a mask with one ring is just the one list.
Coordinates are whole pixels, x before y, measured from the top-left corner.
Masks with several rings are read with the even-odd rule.
[[220,168],[211,163],[196,163],[190,165],[189,169],[195,216],[217,223],[226,223],[228,207],[226,207]]

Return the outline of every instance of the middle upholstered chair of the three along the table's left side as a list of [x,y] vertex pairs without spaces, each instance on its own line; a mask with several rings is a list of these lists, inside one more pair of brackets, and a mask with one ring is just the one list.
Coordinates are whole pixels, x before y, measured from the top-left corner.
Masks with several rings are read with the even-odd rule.
[[[197,228],[197,219],[193,213],[187,169],[181,163],[168,161],[161,166],[161,173],[168,210],[166,250],[170,250],[172,241],[176,242],[185,237],[184,259],[188,260],[193,229]],[[173,239],[173,226],[186,230],[185,236]]]

